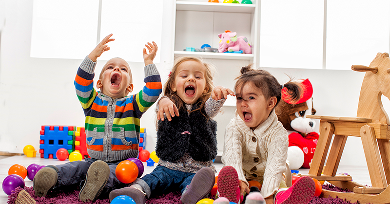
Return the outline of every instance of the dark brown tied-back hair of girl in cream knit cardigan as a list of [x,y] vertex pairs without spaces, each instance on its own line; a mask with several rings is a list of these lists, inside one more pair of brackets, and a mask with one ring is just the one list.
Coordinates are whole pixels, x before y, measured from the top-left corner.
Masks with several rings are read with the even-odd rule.
[[286,100],[291,100],[292,102],[297,102],[301,97],[302,88],[298,82],[290,81],[284,85],[279,84],[277,79],[266,70],[254,70],[252,69],[252,64],[241,68],[241,75],[238,76],[237,81],[234,85],[234,92],[239,88],[242,92],[242,89],[245,84],[252,83],[254,87],[261,90],[264,97],[269,99],[270,97],[275,96],[277,101],[275,107],[280,102],[282,98],[282,89],[287,89],[287,98]]

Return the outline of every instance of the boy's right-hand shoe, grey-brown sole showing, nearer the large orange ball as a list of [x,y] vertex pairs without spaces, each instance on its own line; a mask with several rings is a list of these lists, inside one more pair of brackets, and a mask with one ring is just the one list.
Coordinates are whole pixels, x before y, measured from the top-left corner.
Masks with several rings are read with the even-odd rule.
[[107,184],[110,167],[103,161],[96,161],[88,168],[85,183],[82,186],[78,199],[83,202],[94,201],[103,187]]

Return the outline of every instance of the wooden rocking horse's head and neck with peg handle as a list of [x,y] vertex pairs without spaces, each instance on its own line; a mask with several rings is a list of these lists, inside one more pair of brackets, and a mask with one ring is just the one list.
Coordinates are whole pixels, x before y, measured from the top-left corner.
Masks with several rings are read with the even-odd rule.
[[360,90],[357,117],[371,118],[372,123],[390,125],[383,108],[381,96],[390,100],[390,58],[388,53],[378,53],[369,67],[352,65],[357,72],[366,72]]

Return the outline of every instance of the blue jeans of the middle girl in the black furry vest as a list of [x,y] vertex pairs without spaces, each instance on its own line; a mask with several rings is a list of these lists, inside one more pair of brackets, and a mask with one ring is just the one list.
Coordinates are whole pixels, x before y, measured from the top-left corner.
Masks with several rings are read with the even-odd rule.
[[141,185],[149,198],[152,195],[161,195],[169,192],[180,191],[183,193],[187,185],[190,185],[195,173],[176,171],[157,165],[150,174],[137,179],[133,184]]

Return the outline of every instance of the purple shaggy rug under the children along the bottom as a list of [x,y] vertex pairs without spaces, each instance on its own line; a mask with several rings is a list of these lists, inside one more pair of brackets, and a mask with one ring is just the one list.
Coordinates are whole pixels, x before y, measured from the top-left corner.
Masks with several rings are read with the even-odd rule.
[[[341,189],[334,185],[322,185],[323,189],[327,190],[333,190],[333,191],[339,191],[339,192],[351,192],[348,189]],[[31,197],[34,198],[34,200],[37,202],[37,204],[110,204],[109,199],[104,200],[96,200],[95,202],[82,202],[78,200],[78,190],[74,191],[59,191],[57,193],[56,197],[53,196],[46,196],[46,197],[37,197],[34,195],[33,187],[18,187],[16,188],[11,195],[8,196],[8,202],[7,204],[15,204],[15,200],[21,190],[26,190]],[[168,193],[165,195],[162,195],[157,198],[146,200],[146,204],[180,204],[180,193],[179,192],[173,192]],[[342,200],[339,198],[319,198],[314,197],[312,201],[309,204],[360,204],[357,203],[351,203],[347,200]]]

